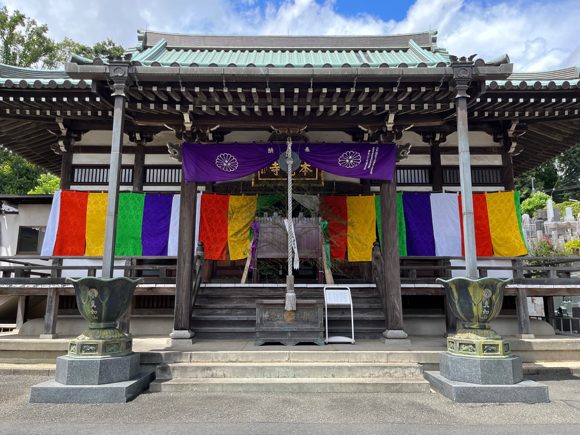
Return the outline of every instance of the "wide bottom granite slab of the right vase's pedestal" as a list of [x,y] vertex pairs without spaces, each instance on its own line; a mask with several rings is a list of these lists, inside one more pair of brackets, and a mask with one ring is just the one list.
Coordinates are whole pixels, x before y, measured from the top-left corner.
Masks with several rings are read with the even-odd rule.
[[524,379],[513,385],[480,385],[458,382],[441,376],[440,372],[425,372],[425,379],[437,393],[455,403],[548,403],[548,386]]

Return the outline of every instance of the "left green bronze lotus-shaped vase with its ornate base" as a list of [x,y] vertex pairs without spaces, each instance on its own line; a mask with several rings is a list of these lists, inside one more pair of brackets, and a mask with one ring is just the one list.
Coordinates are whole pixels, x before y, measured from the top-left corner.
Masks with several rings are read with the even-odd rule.
[[67,278],[66,282],[74,285],[78,310],[89,322],[89,328],[68,343],[68,355],[108,357],[131,353],[133,339],[117,329],[117,321],[131,307],[133,292],[143,278],[83,277]]

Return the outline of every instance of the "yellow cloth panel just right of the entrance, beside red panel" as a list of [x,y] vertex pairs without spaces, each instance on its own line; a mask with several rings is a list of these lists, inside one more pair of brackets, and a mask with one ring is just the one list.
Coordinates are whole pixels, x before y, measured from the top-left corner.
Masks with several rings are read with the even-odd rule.
[[376,241],[375,197],[346,197],[349,262],[369,262]]

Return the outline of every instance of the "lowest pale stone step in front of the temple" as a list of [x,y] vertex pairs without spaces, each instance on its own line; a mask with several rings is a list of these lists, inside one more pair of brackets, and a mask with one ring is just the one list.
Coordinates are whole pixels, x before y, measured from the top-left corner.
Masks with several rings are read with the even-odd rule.
[[423,378],[189,378],[155,379],[152,393],[160,391],[268,391],[305,393],[428,393]]

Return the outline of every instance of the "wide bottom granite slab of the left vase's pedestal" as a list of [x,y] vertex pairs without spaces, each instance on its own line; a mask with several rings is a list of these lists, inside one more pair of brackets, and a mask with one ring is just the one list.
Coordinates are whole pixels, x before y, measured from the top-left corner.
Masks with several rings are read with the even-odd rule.
[[140,372],[135,379],[104,385],[64,385],[47,380],[31,387],[30,403],[126,403],[154,379],[155,372]]

